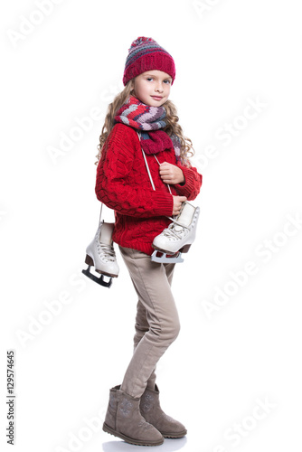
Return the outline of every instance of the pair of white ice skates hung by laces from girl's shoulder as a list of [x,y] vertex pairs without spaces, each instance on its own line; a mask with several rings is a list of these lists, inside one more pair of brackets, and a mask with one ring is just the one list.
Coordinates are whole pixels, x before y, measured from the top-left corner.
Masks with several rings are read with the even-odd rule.
[[[156,236],[152,246],[155,249],[151,260],[161,263],[184,262],[182,252],[187,252],[195,240],[196,226],[199,217],[199,207],[190,202],[183,202],[181,212],[176,218],[170,218],[172,223]],[[118,278],[118,262],[113,248],[112,231],[114,223],[99,222],[98,231],[86,249],[84,275],[103,287],[110,287],[112,278]],[[90,272],[94,267],[99,278]],[[106,278],[109,280],[106,280]]]

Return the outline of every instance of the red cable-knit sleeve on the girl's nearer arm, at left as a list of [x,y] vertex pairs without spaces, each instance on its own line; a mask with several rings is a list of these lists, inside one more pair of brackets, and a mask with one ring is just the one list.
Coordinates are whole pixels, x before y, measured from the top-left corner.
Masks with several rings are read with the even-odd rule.
[[129,127],[113,127],[97,168],[95,192],[98,200],[123,215],[141,218],[171,216],[173,196],[170,193],[142,188],[137,181],[128,179],[132,166],[137,165],[135,154],[135,142]]

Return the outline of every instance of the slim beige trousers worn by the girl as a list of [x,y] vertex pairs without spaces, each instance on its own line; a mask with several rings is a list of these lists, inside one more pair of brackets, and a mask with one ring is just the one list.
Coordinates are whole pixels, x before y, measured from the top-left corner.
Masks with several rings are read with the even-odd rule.
[[156,363],[179,334],[171,292],[175,264],[153,262],[142,251],[121,246],[119,250],[138,297],[134,353],[120,389],[139,398],[146,386],[154,389]]

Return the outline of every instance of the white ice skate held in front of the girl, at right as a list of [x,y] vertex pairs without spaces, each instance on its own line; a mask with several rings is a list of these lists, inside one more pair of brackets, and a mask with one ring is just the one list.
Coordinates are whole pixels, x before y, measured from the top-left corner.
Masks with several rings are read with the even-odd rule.
[[199,207],[183,202],[181,212],[175,219],[171,218],[173,222],[153,240],[155,251],[151,260],[162,263],[184,262],[182,252],[187,252],[195,240],[199,212]]

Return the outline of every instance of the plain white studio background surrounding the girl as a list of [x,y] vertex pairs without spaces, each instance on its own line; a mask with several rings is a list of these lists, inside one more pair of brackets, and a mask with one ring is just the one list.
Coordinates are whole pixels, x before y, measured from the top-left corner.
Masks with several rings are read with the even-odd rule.
[[[182,330],[157,369],[162,407],[188,435],[159,449],[299,450],[300,2],[65,0],[47,14],[38,4],[1,5],[1,449],[11,450],[8,349],[15,451],[140,448],[101,430],[109,389],[132,353],[135,291],[118,247],[110,289],[81,269],[99,221],[94,162],[104,116],[123,89],[131,42],[151,36],[175,59],[170,99],[203,174],[198,238],[175,268]],[[51,157],[50,146],[60,149],[93,108],[93,127]]]

